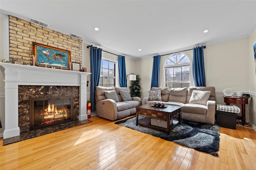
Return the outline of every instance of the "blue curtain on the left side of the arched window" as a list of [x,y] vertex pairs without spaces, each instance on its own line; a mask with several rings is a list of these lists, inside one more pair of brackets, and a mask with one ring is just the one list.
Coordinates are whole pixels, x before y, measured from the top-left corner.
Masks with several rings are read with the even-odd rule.
[[151,88],[159,87],[160,55],[154,56],[153,58],[154,61],[152,69]]

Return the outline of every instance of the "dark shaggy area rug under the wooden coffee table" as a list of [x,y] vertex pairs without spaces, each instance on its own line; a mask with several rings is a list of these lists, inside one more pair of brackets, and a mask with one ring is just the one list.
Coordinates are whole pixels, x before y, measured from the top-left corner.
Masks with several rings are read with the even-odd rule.
[[[146,117],[139,116],[139,121]],[[177,121],[178,119],[174,119]],[[165,132],[158,131],[149,127],[136,126],[136,117],[131,117],[115,124],[134,129],[143,133],[160,137],[166,141],[172,141],[186,147],[196,149],[214,156],[218,156],[220,144],[220,126],[205,123],[197,123],[193,121],[181,121],[170,131],[170,135]]]

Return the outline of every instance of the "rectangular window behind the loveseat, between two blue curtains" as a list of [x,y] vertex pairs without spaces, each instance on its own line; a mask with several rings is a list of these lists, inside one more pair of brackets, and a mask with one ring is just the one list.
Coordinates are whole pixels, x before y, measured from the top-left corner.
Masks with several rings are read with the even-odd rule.
[[116,62],[102,59],[99,86],[116,86]]

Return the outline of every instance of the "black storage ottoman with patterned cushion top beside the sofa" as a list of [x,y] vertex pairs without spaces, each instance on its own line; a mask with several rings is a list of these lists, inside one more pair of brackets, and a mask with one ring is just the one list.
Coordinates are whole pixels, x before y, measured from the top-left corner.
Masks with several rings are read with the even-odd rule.
[[236,129],[236,117],[241,111],[239,107],[217,104],[216,110],[217,125],[229,129]]

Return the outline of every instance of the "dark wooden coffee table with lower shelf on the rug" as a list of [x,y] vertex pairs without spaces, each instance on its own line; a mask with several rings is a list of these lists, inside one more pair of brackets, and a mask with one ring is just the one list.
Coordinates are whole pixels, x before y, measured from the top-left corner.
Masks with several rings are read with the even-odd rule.
[[[159,131],[164,131],[168,135],[170,135],[170,129],[174,128],[177,123],[172,123],[170,125],[170,119],[174,118],[178,115],[178,123],[180,123],[181,120],[181,113],[182,113],[182,106],[175,106],[175,105],[165,105],[166,108],[162,107],[154,107],[150,104],[145,104],[141,106],[136,107],[136,126],[146,126],[153,129],[157,129]],[[146,116],[146,119],[143,119],[142,121],[138,121],[138,116]],[[151,118],[154,119],[160,119],[162,121],[166,121],[167,127],[159,127],[155,125],[151,125]]]

